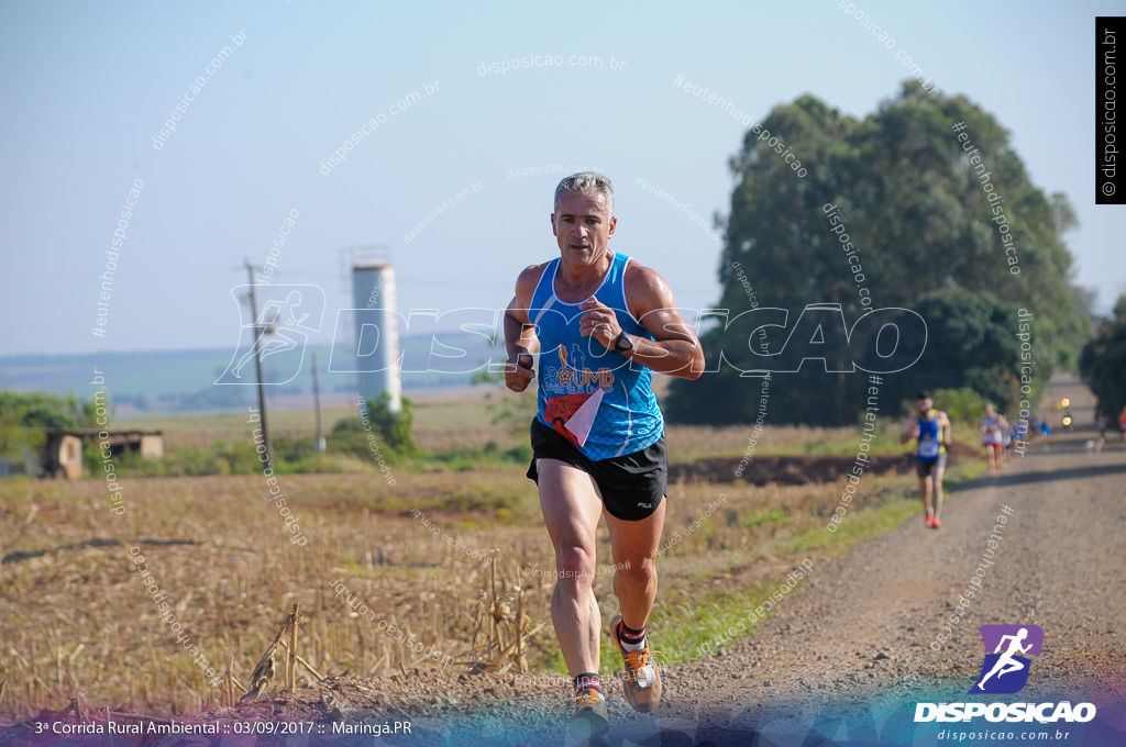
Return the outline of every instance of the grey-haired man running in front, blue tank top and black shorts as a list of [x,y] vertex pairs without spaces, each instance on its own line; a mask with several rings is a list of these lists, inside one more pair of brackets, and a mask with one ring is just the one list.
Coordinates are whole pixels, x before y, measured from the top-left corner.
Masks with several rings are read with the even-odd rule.
[[656,597],[668,465],[664,418],[650,381],[652,371],[699,378],[704,351],[664,279],[609,248],[617,226],[609,179],[593,172],[565,178],[551,218],[560,256],[528,267],[516,281],[504,315],[504,382],[524,392],[539,352],[528,477],[539,487],[555,548],[552,622],[574,683],[571,734],[584,738],[608,728],[592,591],[600,515],[617,567],[622,614],[610,638],[625,664],[625,695],[642,712],[661,699],[645,623]]

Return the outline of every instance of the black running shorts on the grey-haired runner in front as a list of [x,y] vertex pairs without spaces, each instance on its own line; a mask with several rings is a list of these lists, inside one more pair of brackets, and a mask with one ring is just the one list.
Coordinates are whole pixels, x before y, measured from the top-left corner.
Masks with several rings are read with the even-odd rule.
[[579,447],[534,417],[528,479],[538,485],[537,459],[558,459],[590,475],[602,494],[606,510],[623,521],[647,519],[668,493],[669,464],[664,433],[641,451],[593,461]]

